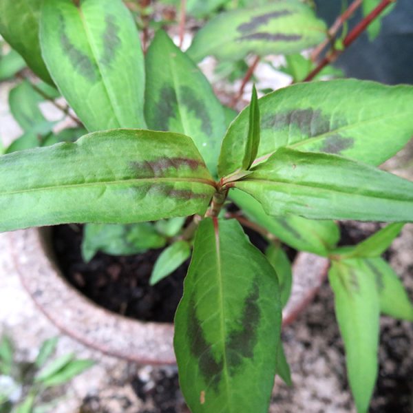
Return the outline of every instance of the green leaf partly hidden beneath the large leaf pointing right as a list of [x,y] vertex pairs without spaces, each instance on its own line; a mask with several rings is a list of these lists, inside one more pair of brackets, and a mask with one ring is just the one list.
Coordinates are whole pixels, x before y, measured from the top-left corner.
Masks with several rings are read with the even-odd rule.
[[327,256],[340,239],[339,227],[332,221],[306,220],[297,215],[271,217],[262,208],[262,204],[251,195],[231,189],[230,198],[238,205],[247,218],[275,235],[284,244],[298,251]]

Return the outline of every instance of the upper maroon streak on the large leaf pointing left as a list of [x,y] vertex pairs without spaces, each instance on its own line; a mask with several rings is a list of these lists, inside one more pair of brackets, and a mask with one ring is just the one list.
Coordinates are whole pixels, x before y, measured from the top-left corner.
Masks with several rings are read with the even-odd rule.
[[131,167],[139,178],[162,178],[162,176],[165,176],[165,172],[171,168],[177,171],[182,167],[189,167],[191,171],[196,171],[199,167],[207,168],[202,160],[165,157],[156,160],[131,162]]

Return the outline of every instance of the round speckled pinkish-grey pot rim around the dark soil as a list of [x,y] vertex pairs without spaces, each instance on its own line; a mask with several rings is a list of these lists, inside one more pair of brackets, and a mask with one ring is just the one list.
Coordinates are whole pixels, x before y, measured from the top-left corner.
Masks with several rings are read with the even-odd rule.
[[[173,364],[173,324],[142,322],[116,315],[81,295],[56,266],[50,230],[10,233],[11,251],[23,286],[62,332],[114,357],[145,364]],[[328,261],[300,253],[293,265],[293,292],[283,325],[313,299],[326,277]]]

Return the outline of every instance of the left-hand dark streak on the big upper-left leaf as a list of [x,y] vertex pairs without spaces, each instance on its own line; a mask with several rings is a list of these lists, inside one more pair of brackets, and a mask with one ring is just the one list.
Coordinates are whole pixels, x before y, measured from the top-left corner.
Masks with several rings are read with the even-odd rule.
[[70,43],[70,39],[66,34],[66,26],[63,16],[60,16],[59,20],[61,23],[61,45],[65,54],[69,56],[70,63],[72,63],[74,70],[87,78],[89,82],[96,82],[98,79],[96,65],[89,59],[89,56],[84,54],[81,50],[78,50],[74,44]]

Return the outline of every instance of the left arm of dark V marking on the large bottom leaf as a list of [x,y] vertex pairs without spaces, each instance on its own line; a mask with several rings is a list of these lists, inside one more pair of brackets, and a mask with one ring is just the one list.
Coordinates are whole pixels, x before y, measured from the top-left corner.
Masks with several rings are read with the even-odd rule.
[[217,392],[224,362],[222,360],[216,361],[213,357],[211,344],[205,339],[200,320],[196,316],[196,305],[193,297],[191,297],[188,306],[188,339],[189,349],[193,357],[198,359],[202,376],[206,379],[205,381],[209,381],[215,392]]

